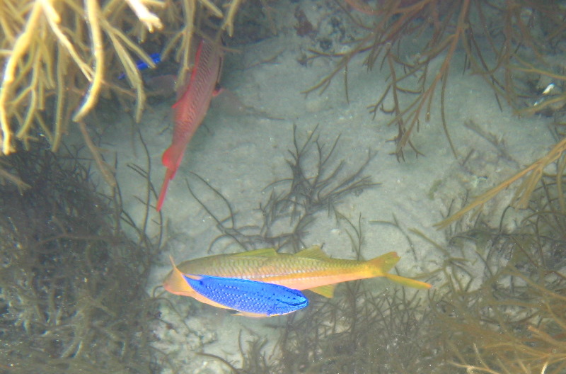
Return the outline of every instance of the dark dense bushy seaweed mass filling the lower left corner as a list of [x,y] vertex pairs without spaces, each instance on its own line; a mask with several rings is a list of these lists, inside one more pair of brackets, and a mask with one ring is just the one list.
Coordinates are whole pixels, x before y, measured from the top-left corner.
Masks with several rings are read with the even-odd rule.
[[0,161],[28,185],[0,185],[0,373],[153,373],[159,244],[117,189],[97,193],[74,152],[47,147]]

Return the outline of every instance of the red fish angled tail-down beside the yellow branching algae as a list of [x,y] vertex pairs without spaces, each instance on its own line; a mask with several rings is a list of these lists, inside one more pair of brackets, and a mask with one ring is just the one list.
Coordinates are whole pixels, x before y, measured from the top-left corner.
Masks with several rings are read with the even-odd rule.
[[161,162],[166,166],[165,180],[157,200],[156,210],[161,210],[169,181],[179,169],[185,149],[207,114],[210,100],[220,79],[222,56],[219,45],[202,39],[197,49],[195,65],[183,96],[173,105],[175,130],[171,146],[163,152]]

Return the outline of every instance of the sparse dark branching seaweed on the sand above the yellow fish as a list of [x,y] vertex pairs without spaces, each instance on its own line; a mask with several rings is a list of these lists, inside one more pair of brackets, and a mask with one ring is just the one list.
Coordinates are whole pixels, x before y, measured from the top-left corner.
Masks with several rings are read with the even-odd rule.
[[293,148],[289,149],[290,159],[287,160],[289,176],[264,188],[264,191],[270,191],[270,195],[258,207],[263,217],[263,222],[258,226],[240,227],[229,201],[200,176],[196,176],[197,180],[224,202],[225,217],[219,217],[218,213],[202,203],[192,187],[195,182],[187,183],[192,196],[214,218],[216,227],[221,231],[221,235],[212,242],[211,249],[219,241],[229,239],[244,249],[270,246],[299,251],[306,247],[302,240],[319,212],[335,214],[340,200],[379,184],[364,174],[366,166],[375,156],[371,150],[368,150],[366,159],[357,169],[347,170],[345,162],[336,159],[339,136],[333,142],[323,142],[319,138],[318,128],[315,128],[301,141],[297,132],[294,126]]

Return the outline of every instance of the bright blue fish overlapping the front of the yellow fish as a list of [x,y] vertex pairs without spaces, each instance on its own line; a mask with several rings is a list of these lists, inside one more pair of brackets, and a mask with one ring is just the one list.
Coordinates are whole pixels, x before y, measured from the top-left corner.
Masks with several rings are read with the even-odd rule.
[[288,314],[308,305],[308,299],[301,291],[282,285],[216,276],[183,274],[183,277],[201,296],[195,297],[197,300],[233,309],[248,317]]

